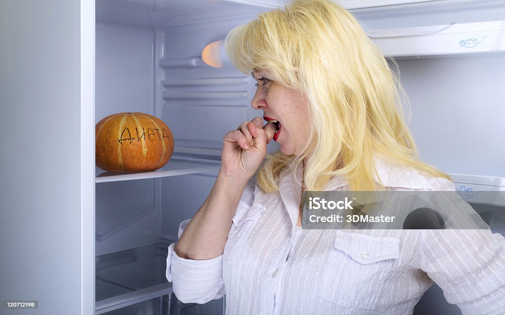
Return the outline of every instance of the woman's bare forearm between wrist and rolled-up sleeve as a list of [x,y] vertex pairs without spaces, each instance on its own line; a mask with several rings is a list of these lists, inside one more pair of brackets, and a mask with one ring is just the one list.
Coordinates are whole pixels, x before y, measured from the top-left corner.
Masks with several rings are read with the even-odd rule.
[[206,260],[223,254],[231,219],[235,215],[247,180],[219,171],[211,193],[176,244],[174,250],[177,256]]

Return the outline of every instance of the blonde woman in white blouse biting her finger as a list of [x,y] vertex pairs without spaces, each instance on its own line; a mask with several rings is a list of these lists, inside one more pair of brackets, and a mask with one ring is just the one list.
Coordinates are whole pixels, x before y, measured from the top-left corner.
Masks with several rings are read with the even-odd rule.
[[[227,314],[404,315],[434,280],[465,313],[505,313],[499,234],[300,229],[304,190],[454,190],[418,159],[399,81],[349,12],[294,1],[225,42],[258,82],[251,105],[267,123],[256,117],[224,137],[209,197],[169,246],[179,300],[226,294]],[[267,155],[272,139],[280,151]]]

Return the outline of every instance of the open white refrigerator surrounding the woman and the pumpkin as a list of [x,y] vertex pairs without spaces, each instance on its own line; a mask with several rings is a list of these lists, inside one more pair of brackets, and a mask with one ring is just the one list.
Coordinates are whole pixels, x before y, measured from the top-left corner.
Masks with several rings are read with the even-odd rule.
[[[224,314],[226,296],[177,300],[167,247],[210,193],[224,135],[262,112],[250,106],[255,80],[222,49],[221,68],[201,56],[284,3],[0,2],[0,314]],[[340,3],[398,62],[422,159],[505,234],[505,202],[474,194],[505,192],[505,1]],[[169,126],[166,166],[132,174],[95,166],[95,124],[119,112]],[[7,306],[20,301],[34,306]],[[461,311],[435,284],[414,314]]]

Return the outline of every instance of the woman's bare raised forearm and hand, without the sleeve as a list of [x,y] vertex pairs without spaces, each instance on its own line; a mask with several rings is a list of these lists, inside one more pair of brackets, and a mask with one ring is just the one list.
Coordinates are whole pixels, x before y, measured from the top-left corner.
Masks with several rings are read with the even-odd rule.
[[212,191],[189,222],[176,248],[178,256],[204,260],[223,254],[231,219],[245,184],[258,170],[275,133],[263,119],[244,121],[223,139],[221,168]]

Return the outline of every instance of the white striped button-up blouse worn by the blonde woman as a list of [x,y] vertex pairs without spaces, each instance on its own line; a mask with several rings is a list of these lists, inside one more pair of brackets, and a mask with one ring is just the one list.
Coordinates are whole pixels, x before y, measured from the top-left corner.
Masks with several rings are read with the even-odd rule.
[[[390,191],[454,191],[444,178],[375,160]],[[328,230],[296,227],[301,169],[281,174],[280,193],[251,178],[224,253],[190,260],[168,247],[166,276],[177,298],[226,294],[226,314],[409,315],[436,282],[464,315],[505,314],[505,238],[487,230]],[[298,179],[298,181],[296,181]],[[325,191],[345,191],[332,179]],[[189,223],[181,222],[179,237]],[[293,232],[294,231],[294,232]]]

